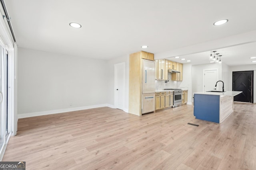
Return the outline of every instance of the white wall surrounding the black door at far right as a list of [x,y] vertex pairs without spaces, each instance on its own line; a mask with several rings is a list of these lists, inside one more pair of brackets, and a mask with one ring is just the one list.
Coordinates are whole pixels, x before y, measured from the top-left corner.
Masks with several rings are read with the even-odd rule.
[[248,65],[240,65],[240,66],[230,66],[230,72],[229,72],[229,81],[231,82],[229,84],[229,88],[230,90],[232,90],[232,72],[233,71],[252,71],[254,70],[254,94],[253,94],[253,100],[254,100],[254,103],[256,103],[256,64],[248,64]]

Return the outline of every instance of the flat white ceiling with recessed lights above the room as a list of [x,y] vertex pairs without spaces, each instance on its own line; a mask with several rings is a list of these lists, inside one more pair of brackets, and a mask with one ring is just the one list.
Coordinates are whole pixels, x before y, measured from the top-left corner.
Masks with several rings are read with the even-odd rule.
[[[255,0],[5,0],[5,4],[19,47],[96,59],[121,57],[143,50],[142,45],[149,46],[144,51],[162,53],[256,30]],[[213,25],[221,19],[229,21]],[[82,28],[72,28],[70,22]],[[236,65],[256,56],[255,47],[250,43],[216,50],[224,63]],[[183,57],[203,64],[208,55],[210,51]]]

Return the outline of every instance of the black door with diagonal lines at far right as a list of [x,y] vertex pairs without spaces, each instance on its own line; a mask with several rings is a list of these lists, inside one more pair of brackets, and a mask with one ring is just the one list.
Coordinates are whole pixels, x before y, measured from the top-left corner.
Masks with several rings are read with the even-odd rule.
[[234,96],[234,101],[253,103],[253,71],[235,71],[232,75],[232,90],[242,91]]

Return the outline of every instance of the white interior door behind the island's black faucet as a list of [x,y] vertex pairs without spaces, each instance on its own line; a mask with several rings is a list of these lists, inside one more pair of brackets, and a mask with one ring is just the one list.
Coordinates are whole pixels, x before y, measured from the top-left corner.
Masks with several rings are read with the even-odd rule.
[[218,69],[212,69],[212,70],[204,70],[203,75],[203,89],[204,92],[206,91],[212,91],[212,90],[219,90],[218,86],[215,87],[216,82],[218,81],[219,73]]

